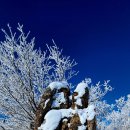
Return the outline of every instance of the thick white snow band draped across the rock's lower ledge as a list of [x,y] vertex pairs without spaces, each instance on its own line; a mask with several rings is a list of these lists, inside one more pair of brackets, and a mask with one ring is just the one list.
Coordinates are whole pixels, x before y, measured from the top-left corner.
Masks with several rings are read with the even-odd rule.
[[38,130],[55,130],[59,125],[61,119],[67,117],[72,117],[74,114],[78,114],[82,126],[78,127],[78,130],[85,130],[84,124],[86,120],[93,120],[95,117],[95,107],[94,105],[89,105],[84,109],[60,109],[60,110],[51,110],[45,115],[45,121],[39,127]]

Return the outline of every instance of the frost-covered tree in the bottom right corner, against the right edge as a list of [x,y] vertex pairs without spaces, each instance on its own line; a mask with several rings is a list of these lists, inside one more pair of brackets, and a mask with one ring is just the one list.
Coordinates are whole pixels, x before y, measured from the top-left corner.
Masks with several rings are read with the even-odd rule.
[[113,111],[106,116],[109,122],[105,130],[129,130],[130,129],[130,95],[116,100]]

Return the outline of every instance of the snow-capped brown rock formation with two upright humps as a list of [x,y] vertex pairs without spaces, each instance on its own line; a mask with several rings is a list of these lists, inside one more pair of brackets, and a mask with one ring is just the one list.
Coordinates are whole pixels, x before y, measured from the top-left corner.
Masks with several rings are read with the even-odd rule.
[[78,84],[71,96],[67,83],[51,83],[36,111],[34,130],[96,130],[95,109],[88,99],[86,83]]

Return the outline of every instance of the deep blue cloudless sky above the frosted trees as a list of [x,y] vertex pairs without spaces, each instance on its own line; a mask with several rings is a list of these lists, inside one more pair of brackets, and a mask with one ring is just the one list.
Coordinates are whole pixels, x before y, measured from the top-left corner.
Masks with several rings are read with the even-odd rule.
[[130,93],[130,2],[1,0],[0,28],[18,22],[36,37],[36,47],[44,49],[53,38],[79,63],[75,83],[110,79],[109,102]]

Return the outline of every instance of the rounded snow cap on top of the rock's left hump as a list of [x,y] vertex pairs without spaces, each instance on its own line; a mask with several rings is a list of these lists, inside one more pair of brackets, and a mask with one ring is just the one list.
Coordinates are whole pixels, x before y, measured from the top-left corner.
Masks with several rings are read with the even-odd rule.
[[53,89],[61,89],[61,88],[68,88],[68,83],[66,81],[55,81],[49,84],[48,87],[50,87],[51,90]]

